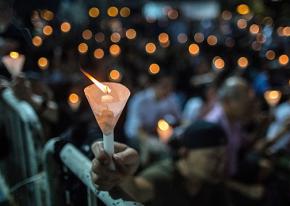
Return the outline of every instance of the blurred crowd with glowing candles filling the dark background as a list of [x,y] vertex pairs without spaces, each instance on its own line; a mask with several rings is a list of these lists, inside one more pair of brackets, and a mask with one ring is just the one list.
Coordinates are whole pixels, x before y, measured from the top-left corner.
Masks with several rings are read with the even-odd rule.
[[[60,137],[93,158],[102,135],[80,69],[122,83],[131,97],[115,141],[138,152],[128,174],[140,187],[123,186],[137,200],[289,205],[290,5],[257,2],[223,1],[216,17],[191,19],[170,3],[154,17],[126,1],[0,0],[1,98],[9,90],[34,109],[42,148]],[[5,159],[9,132],[0,129]]]

